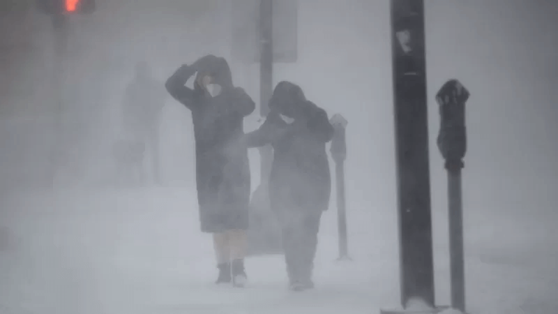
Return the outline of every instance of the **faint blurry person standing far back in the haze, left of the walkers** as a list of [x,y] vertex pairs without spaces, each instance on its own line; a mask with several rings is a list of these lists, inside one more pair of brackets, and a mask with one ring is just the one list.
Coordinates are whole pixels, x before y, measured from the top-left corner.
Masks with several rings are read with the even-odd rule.
[[[123,126],[128,146],[144,145],[151,161],[153,181],[161,184],[160,177],[160,116],[165,106],[165,90],[151,73],[146,62],[135,65],[135,76],[126,87],[123,102]],[[132,156],[130,156],[132,158]],[[142,156],[142,163],[143,163]],[[144,175],[142,174],[142,177]]]

